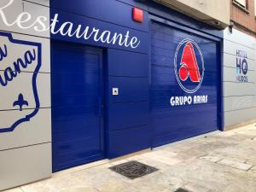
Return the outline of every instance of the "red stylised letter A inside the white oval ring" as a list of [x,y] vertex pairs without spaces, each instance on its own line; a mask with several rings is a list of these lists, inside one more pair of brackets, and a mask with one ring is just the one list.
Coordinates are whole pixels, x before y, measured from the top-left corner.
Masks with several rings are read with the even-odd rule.
[[192,82],[200,82],[201,75],[195,58],[195,50],[193,44],[188,42],[184,49],[181,59],[182,67],[179,68],[179,78],[183,81],[190,78]]

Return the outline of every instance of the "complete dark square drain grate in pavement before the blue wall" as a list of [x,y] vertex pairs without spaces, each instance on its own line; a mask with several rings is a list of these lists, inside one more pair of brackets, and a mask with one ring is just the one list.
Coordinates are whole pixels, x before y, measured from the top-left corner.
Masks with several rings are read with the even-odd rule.
[[136,160],[131,160],[118,166],[112,166],[109,169],[131,179],[143,177],[144,175],[148,175],[149,173],[156,172],[158,170]]

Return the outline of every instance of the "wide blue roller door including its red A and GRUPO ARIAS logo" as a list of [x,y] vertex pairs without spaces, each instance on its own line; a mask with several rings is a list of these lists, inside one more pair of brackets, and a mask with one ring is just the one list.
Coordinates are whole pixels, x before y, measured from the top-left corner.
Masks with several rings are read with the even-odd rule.
[[151,23],[154,147],[218,130],[218,43]]

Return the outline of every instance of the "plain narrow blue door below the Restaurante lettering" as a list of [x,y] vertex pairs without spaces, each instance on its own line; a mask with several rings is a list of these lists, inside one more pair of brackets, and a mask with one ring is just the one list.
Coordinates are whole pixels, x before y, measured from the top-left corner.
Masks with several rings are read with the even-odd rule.
[[53,42],[54,172],[104,157],[102,51]]

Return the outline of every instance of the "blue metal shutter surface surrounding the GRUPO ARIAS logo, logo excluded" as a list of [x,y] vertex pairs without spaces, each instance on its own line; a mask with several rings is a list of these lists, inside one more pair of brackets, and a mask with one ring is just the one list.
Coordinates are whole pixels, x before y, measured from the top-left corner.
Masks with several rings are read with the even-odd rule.
[[[184,39],[198,44],[203,55],[204,78],[195,93],[185,92],[175,75],[174,57]],[[218,130],[218,59],[217,42],[151,22],[150,111],[154,147]],[[172,96],[206,95],[207,103],[180,106],[170,103]]]

